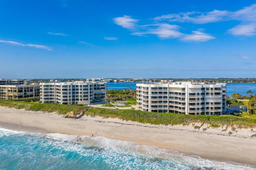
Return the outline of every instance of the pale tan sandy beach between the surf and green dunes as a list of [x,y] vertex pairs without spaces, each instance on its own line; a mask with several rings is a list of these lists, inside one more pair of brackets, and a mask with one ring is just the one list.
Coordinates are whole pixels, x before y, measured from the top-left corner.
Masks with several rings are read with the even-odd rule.
[[[21,122],[21,125],[20,125]],[[222,162],[256,166],[256,129],[212,128],[203,125],[150,125],[119,119],[88,117],[63,118],[56,113],[0,107],[0,127],[35,133],[103,136],[114,140],[156,146]],[[197,125],[201,126],[201,125]],[[231,134],[232,133],[232,134]],[[74,139],[75,140],[75,139]]]

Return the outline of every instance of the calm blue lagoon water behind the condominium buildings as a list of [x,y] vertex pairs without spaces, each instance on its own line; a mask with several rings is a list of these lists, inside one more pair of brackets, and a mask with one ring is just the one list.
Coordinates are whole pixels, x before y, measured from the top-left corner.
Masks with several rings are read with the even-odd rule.
[[[137,82],[138,83],[138,82]],[[136,90],[136,83],[108,83],[108,89],[123,90],[129,89]],[[242,96],[248,96],[246,92],[251,90],[253,94],[256,93],[256,83],[227,83],[227,95],[231,96],[232,93],[240,93]]]

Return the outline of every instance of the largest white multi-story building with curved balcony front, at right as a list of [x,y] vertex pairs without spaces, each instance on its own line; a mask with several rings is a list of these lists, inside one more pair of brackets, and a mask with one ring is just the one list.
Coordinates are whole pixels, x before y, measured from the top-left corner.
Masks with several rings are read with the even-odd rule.
[[142,111],[186,115],[226,112],[226,83],[137,83],[136,90]]

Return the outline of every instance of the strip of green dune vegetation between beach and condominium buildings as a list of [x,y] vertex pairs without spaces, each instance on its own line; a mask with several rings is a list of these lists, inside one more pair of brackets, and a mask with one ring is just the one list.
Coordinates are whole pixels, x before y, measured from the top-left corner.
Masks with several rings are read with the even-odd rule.
[[[56,112],[65,114],[69,111],[75,111],[82,106],[44,104],[38,102],[0,100],[0,105],[16,109],[26,109],[30,111]],[[90,116],[100,116],[104,118],[118,118],[126,121],[135,121],[139,123],[150,123],[154,125],[190,125],[194,123],[204,123],[211,127],[238,127],[252,128],[256,127],[256,119],[249,117],[212,116],[212,115],[181,115],[175,113],[155,113],[138,110],[105,109],[90,107],[85,113]]]

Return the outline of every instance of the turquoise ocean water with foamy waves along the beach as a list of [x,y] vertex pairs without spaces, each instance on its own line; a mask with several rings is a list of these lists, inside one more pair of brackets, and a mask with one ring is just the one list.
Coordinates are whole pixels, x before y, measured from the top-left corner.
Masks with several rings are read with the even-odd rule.
[[[76,142],[76,137],[82,141]],[[36,134],[0,128],[2,170],[252,170],[104,137]]]

